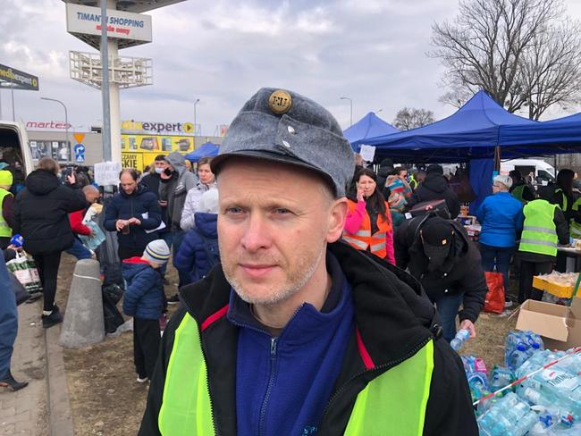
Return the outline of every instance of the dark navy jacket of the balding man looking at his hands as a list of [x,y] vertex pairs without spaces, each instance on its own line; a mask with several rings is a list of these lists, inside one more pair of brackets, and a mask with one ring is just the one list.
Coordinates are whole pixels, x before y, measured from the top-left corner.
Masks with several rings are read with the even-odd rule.
[[147,189],[147,186],[139,183],[138,189],[131,195],[119,189],[111,202],[105,207],[104,226],[107,231],[116,231],[115,222],[117,220],[129,220],[137,218],[141,225],[130,226],[127,235],[117,231],[117,240],[122,247],[135,247],[145,249],[147,244],[157,239],[157,232],[147,233],[159,227],[162,222],[161,209],[157,203],[156,195]]

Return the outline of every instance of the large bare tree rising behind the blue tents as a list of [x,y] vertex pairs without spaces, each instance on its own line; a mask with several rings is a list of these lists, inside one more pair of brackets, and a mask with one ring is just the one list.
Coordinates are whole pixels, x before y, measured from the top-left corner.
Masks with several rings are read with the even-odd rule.
[[460,0],[453,21],[433,26],[451,89],[442,101],[464,103],[484,89],[509,112],[529,107],[538,117],[577,93],[579,29],[563,21],[562,0]]

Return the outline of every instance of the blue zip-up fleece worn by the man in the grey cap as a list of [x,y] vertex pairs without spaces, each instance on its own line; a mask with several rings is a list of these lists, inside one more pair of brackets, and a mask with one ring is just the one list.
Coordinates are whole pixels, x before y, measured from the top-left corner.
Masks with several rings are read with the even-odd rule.
[[[274,338],[232,290],[228,319],[240,327],[236,367],[238,434],[310,435],[323,418],[355,329],[349,284],[327,252],[333,286],[319,312],[303,304]],[[325,309],[329,309],[328,311]]]

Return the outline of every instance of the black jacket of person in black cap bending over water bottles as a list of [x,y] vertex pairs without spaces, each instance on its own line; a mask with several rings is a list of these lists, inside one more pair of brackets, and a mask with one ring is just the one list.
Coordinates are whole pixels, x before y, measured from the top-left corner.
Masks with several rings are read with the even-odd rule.
[[450,259],[453,266],[448,273],[427,272],[428,259],[419,234],[424,219],[425,216],[417,216],[396,229],[393,235],[395,262],[400,268],[409,269],[430,298],[464,292],[463,308],[459,311],[460,322],[467,319],[476,323],[488,291],[480,253],[468,239],[464,228],[458,222],[450,221],[456,229],[454,254]]

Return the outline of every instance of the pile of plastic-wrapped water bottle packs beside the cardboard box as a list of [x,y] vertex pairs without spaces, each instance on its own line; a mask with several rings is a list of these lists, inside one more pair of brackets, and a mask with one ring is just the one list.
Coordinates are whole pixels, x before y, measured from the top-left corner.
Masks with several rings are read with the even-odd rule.
[[[507,366],[494,366],[487,376],[484,361],[463,356],[464,369],[476,401],[508,387],[478,404],[483,436],[581,436],[581,352],[543,349],[532,331],[510,331]],[[559,362],[552,364],[557,359]],[[522,380],[521,380],[522,379]]]

